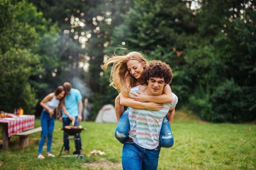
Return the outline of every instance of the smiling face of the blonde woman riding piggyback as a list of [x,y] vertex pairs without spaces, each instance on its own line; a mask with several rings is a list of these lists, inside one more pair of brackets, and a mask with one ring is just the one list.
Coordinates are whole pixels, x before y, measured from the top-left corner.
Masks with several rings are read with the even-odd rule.
[[132,74],[133,77],[135,77],[136,79],[141,77],[145,67],[145,63],[141,63],[138,60],[129,60],[126,65],[130,74]]

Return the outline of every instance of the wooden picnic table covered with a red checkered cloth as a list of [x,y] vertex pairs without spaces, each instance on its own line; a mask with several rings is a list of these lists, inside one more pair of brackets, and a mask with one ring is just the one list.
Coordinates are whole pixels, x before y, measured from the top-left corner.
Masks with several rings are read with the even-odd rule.
[[0,118],[3,133],[3,148],[9,147],[9,139],[12,135],[34,128],[35,115],[15,116],[12,113],[7,114],[10,117]]

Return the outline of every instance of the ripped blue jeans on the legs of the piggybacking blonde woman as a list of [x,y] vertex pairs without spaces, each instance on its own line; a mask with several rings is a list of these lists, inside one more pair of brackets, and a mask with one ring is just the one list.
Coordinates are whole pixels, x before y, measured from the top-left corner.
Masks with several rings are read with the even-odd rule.
[[[128,137],[128,132],[130,131],[129,122],[129,108],[122,114],[120,120],[116,126],[115,137],[116,139],[124,144],[126,138]],[[164,148],[172,147],[174,141],[172,136],[171,126],[166,117],[164,117],[163,124],[160,130],[160,146]]]

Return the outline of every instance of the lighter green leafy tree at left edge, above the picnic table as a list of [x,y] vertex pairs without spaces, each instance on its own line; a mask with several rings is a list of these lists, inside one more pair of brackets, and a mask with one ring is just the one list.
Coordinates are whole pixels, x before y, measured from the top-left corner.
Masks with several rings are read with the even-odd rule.
[[0,6],[0,108],[13,112],[14,108],[23,107],[26,114],[31,114],[38,100],[29,77],[41,69],[35,49],[39,41],[37,31],[44,30],[37,23],[42,14],[26,2],[12,4],[1,0]]

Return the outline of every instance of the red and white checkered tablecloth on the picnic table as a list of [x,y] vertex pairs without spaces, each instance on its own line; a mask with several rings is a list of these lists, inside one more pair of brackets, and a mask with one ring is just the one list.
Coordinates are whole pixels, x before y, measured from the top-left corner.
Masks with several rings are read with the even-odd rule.
[[0,118],[0,123],[8,123],[9,137],[15,133],[34,128],[35,115],[21,115],[16,117],[11,113],[8,113],[8,115],[13,116],[13,118]]

